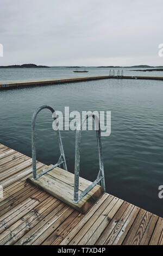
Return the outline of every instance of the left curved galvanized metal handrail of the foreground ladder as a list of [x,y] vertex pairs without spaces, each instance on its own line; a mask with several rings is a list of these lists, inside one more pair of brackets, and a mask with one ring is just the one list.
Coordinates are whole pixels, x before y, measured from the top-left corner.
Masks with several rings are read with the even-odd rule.
[[35,120],[36,120],[37,114],[39,114],[39,112],[42,109],[44,109],[44,108],[47,108],[47,109],[49,109],[52,112],[52,114],[54,115],[53,116],[54,120],[57,118],[56,115],[55,115],[54,109],[52,107],[50,107],[50,106],[47,106],[47,105],[43,105],[41,107],[38,107],[35,110],[35,112],[33,113],[33,116],[32,116],[32,164],[33,164],[33,179],[34,180],[39,178],[43,174],[49,172],[49,170],[52,170],[55,167],[60,166],[60,164],[63,164],[64,169],[67,170],[64,148],[63,148],[63,145],[62,145],[60,131],[58,129],[57,130],[57,137],[58,137],[60,154],[61,154],[60,157],[59,157],[58,163],[54,164],[51,168],[48,168],[45,171],[43,171],[43,172],[39,173],[38,175],[36,175]]

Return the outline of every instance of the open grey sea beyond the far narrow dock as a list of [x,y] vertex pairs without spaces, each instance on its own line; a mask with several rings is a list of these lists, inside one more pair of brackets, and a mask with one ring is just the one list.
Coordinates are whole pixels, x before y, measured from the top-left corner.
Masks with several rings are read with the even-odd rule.
[[[14,81],[26,81],[26,80],[41,80],[41,79],[55,79],[64,77],[78,77],[78,76],[98,76],[109,75],[109,68],[95,68],[86,67],[77,70],[86,69],[88,73],[74,73],[76,68],[55,67],[45,69],[0,69],[0,82],[14,82]],[[140,68],[137,68],[140,69]],[[142,68],[141,68],[142,69]],[[117,74],[118,69],[114,69]],[[121,68],[120,74],[121,74]],[[144,69],[142,69],[144,70]],[[163,76],[163,71],[134,71],[131,68],[123,68],[124,75],[126,76]]]

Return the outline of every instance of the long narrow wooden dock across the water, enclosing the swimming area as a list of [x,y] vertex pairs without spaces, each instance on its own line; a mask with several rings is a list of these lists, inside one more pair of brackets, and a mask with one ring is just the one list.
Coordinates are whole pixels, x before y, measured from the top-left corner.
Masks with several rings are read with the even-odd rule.
[[163,77],[159,76],[85,76],[85,77],[68,77],[61,79],[51,79],[51,80],[36,80],[36,81],[18,81],[2,83],[0,82],[0,90],[4,89],[14,89],[14,88],[25,88],[25,87],[35,87],[35,86],[47,86],[52,84],[61,83],[75,83],[75,82],[85,82],[94,81],[102,79],[138,79],[138,80],[160,80],[163,81]]

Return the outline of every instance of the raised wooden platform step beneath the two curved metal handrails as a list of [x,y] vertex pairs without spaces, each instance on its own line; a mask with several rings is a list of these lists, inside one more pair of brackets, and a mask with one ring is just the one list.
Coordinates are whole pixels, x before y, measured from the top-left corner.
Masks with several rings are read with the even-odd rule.
[[[51,166],[52,165],[44,168],[43,170],[48,169]],[[40,172],[42,172],[42,170],[40,170]],[[37,174],[39,174],[39,172]],[[36,180],[33,180],[31,176],[27,181],[32,182],[35,186],[42,188],[42,190],[48,192],[55,198],[58,198],[65,204],[70,205],[72,208],[82,212],[83,214],[85,214],[104,193],[103,188],[96,185],[77,204],[75,204],[73,202],[74,174],[59,167],[50,170],[48,173],[42,175]],[[91,183],[91,181],[80,177],[79,193],[83,192]]]

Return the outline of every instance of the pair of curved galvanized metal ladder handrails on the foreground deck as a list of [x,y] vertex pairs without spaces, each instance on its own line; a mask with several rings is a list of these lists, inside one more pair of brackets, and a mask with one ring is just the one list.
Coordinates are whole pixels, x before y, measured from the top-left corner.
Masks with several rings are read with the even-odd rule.
[[[65,154],[64,154],[64,148],[62,146],[62,141],[61,141],[61,135],[59,128],[57,130],[57,137],[58,137],[58,142],[59,142],[59,148],[60,148],[60,157],[59,160],[56,164],[54,164],[52,167],[42,171],[39,174],[36,174],[36,147],[35,147],[35,120],[37,117],[37,114],[44,109],[47,108],[49,109],[52,114],[53,114],[53,119],[55,120],[56,114],[55,111],[52,107],[44,105],[39,108],[37,108],[33,114],[32,117],[32,163],[33,163],[33,180],[39,178],[43,174],[49,172],[50,170],[54,169],[55,167],[59,166],[62,164],[64,169],[67,170],[67,165],[66,165],[66,159],[65,159]],[[79,193],[79,170],[80,170],[80,140],[81,140],[81,132],[82,132],[82,125],[86,121],[87,118],[92,117],[95,120],[96,124],[96,134],[97,134],[97,144],[98,144],[98,155],[99,155],[99,172],[97,175],[97,178],[95,181],[92,182],[90,186],[88,186],[81,194]],[[74,203],[78,203],[79,200],[81,200],[93,187],[96,186],[96,184],[101,184],[103,187],[103,190],[105,191],[105,179],[104,179],[104,164],[103,164],[103,155],[102,155],[102,144],[101,144],[101,128],[100,128],[100,123],[97,115],[95,114],[90,114],[86,115],[86,118],[84,119],[83,123],[80,125],[78,124],[77,126],[77,131],[76,131],[76,149],[75,149],[75,166],[74,166]]]

